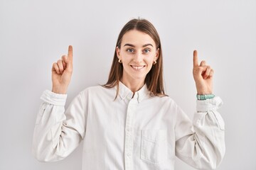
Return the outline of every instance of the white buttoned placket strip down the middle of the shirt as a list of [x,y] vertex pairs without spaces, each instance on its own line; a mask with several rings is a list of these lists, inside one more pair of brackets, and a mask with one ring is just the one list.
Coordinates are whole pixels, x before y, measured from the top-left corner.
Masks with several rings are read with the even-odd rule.
[[133,122],[136,99],[132,98],[127,107],[127,119],[125,124],[125,141],[124,141],[124,164],[125,170],[132,169],[132,151],[133,151]]

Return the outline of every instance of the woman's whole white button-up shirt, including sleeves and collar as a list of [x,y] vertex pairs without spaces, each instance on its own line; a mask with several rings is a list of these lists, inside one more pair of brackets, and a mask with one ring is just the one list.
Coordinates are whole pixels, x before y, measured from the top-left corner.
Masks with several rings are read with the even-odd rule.
[[[169,97],[134,96],[119,83],[81,91],[65,111],[67,95],[44,91],[33,154],[42,162],[67,157],[83,142],[82,169],[174,169],[175,156],[196,169],[215,169],[225,154],[219,97],[197,101],[193,123]],[[132,97],[133,96],[133,97]]]

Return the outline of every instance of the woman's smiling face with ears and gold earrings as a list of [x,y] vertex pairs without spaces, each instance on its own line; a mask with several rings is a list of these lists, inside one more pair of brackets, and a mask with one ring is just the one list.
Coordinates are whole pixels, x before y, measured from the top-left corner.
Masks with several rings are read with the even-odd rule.
[[146,33],[129,30],[122,37],[117,57],[122,60],[124,81],[144,81],[154,61],[159,57],[156,43]]

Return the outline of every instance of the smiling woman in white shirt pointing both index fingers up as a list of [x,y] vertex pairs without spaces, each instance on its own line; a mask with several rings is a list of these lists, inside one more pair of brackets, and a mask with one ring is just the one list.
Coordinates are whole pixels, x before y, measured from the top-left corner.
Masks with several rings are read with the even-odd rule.
[[213,69],[193,53],[197,112],[193,123],[164,94],[161,42],[154,26],[133,19],[117,40],[104,86],[81,91],[65,111],[73,48],[53,64],[33,136],[43,162],[67,157],[83,141],[82,169],[174,169],[175,156],[196,169],[215,169],[225,153],[222,104],[212,94]]

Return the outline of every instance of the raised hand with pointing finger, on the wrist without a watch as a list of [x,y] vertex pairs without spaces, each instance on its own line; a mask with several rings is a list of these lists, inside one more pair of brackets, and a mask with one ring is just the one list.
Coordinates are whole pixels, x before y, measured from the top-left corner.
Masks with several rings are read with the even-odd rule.
[[66,94],[73,72],[73,47],[68,46],[68,56],[63,55],[61,60],[53,63],[52,67],[52,91],[56,94]]

